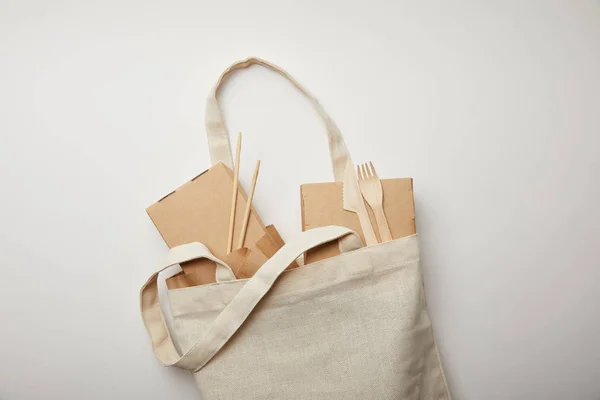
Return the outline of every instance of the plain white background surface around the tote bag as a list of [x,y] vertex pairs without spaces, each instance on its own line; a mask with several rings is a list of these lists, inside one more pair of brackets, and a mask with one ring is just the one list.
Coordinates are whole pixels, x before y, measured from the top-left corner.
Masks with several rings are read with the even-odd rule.
[[[1,399],[197,398],[139,317],[166,251],[145,208],[209,166],[205,97],[249,55],[414,178],[456,399],[600,399],[598,1],[2,0],[0,52]],[[299,185],[332,178],[322,124],[259,68],[221,101],[292,237]]]

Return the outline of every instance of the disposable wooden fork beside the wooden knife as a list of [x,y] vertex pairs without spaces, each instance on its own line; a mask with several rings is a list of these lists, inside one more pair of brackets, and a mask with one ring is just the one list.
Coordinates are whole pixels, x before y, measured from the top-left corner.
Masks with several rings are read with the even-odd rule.
[[375,215],[379,237],[382,242],[389,242],[392,240],[392,232],[383,211],[383,188],[379,176],[377,176],[377,171],[375,171],[375,167],[370,161],[368,165],[362,164],[357,166],[356,169],[360,191]]

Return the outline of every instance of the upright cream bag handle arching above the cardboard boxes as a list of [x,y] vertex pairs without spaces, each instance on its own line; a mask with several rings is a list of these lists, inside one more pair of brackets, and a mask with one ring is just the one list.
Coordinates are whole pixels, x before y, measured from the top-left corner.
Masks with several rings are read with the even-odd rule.
[[219,101],[217,100],[217,92],[225,81],[225,79],[238,69],[248,68],[251,65],[260,65],[268,68],[274,72],[277,72],[285,79],[290,81],[302,94],[308,98],[317,113],[325,122],[327,128],[327,137],[329,140],[329,153],[331,155],[331,163],[333,165],[333,174],[336,182],[343,182],[344,171],[346,165],[352,166],[352,160],[350,153],[344,142],[344,138],[340,129],[337,127],[335,122],[331,119],[329,114],[325,112],[325,109],[319,101],[311,95],[298,81],[296,81],[290,74],[288,74],[282,68],[271,64],[268,61],[262,60],[256,57],[249,57],[242,61],[233,63],[229,68],[225,70],[219,77],[217,84],[210,92],[206,102],[206,134],[208,135],[208,147],[210,150],[210,158],[213,164],[222,162],[229,168],[233,169],[233,159],[231,156],[231,144],[229,142],[229,134],[225,128],[223,121],[223,113]]

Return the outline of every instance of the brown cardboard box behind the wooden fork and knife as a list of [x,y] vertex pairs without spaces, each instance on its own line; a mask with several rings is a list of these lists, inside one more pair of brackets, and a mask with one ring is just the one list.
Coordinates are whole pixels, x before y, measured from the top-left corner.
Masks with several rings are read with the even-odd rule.
[[[310,183],[300,187],[302,201],[302,230],[327,225],[345,226],[365,238],[355,213],[344,210],[342,203],[342,183]],[[416,233],[415,201],[412,178],[382,179],[383,209],[392,232],[398,239]],[[373,211],[367,204],[367,212],[373,225],[377,240],[381,241]],[[309,264],[325,258],[339,255],[337,243],[329,243],[305,254],[305,263]]]

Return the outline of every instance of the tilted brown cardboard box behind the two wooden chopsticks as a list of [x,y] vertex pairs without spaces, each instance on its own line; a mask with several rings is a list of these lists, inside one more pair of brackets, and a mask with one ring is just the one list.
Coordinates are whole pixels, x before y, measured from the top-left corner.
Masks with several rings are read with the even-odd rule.
[[[218,163],[152,204],[146,212],[169,248],[197,241],[206,245],[218,259],[226,260],[232,186],[233,172]],[[240,235],[246,204],[247,196],[240,185],[234,244],[237,244]],[[266,233],[266,227],[252,209],[244,241],[244,247],[249,252],[244,254],[244,260],[249,261],[255,269],[267,260],[267,256],[257,247],[257,242]],[[251,260],[247,260],[248,257]],[[169,289],[215,282],[216,266],[212,261],[194,260],[181,267],[183,273],[167,280]],[[246,271],[245,275],[252,275],[253,272]]]

